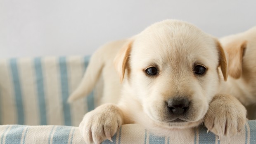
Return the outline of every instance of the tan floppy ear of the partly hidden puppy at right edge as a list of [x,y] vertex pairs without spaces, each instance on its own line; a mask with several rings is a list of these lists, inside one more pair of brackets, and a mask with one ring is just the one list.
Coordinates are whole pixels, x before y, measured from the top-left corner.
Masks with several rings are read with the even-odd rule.
[[241,77],[242,74],[242,60],[246,45],[246,41],[238,41],[225,46],[225,50],[228,53],[229,75],[235,79]]

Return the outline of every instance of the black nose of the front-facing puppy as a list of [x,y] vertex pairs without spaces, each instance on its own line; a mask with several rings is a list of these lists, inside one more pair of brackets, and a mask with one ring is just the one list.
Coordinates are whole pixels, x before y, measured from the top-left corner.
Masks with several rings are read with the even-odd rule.
[[168,109],[172,114],[181,115],[187,112],[189,100],[187,98],[174,98],[168,100]]

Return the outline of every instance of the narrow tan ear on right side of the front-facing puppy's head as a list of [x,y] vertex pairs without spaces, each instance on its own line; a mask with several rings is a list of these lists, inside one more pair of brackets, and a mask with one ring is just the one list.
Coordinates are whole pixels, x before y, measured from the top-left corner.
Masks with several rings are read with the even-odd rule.
[[217,42],[217,49],[219,53],[219,66],[221,69],[221,72],[223,74],[224,81],[227,81],[228,79],[228,62],[225,55],[225,51],[223,50],[222,46],[220,45],[220,42]]

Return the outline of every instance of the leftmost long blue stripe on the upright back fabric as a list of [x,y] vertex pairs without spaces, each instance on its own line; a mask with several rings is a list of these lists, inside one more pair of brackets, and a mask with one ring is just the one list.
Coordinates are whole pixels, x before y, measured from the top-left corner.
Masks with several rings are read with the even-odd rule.
[[24,110],[23,110],[23,101],[22,101],[22,94],[21,94],[21,86],[19,81],[19,72],[17,67],[17,59],[12,58],[10,59],[10,66],[12,70],[12,82],[14,85],[15,91],[15,101],[17,107],[17,114],[18,114],[18,124],[24,124]]

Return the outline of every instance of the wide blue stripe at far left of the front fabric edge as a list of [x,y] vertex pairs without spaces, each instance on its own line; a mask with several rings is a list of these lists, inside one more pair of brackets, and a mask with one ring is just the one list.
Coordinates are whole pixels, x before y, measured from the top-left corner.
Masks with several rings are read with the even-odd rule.
[[20,144],[24,125],[13,125],[5,138],[5,144]]

